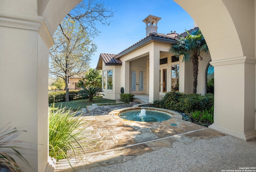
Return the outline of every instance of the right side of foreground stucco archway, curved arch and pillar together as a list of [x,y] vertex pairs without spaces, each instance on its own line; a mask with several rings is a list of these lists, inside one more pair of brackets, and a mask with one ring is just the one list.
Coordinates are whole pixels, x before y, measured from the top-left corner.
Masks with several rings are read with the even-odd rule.
[[211,52],[215,79],[210,128],[243,140],[255,138],[255,1],[174,1],[195,20]]

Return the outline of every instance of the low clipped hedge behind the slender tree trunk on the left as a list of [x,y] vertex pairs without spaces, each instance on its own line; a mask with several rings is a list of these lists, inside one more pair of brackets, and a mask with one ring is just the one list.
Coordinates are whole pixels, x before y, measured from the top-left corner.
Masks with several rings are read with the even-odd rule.
[[[70,90],[69,91],[69,100],[74,100],[80,98],[78,93],[79,90]],[[65,102],[66,99],[66,91],[61,92],[49,92],[48,93],[48,102]]]

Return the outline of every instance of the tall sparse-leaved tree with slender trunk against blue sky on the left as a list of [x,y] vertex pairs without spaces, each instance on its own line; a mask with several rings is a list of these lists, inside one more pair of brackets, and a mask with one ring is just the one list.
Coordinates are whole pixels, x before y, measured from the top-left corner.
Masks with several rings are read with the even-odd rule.
[[55,45],[49,52],[49,74],[65,81],[66,102],[69,101],[70,78],[81,75],[89,68],[91,56],[96,51],[92,38],[100,31],[96,22],[109,25],[113,16],[104,2],[83,0],[62,20],[54,33]]

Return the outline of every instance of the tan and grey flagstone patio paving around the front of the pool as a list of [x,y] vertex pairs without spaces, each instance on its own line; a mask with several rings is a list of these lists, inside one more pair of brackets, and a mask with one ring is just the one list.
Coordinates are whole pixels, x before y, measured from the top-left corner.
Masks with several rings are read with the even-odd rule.
[[[93,105],[87,108],[81,120],[87,121],[84,128],[88,130],[88,138],[95,142],[86,149],[83,161],[70,159],[74,168],[121,163],[146,152],[172,147],[173,142],[190,144],[194,140],[224,136],[210,128],[184,121],[181,117],[162,122],[134,122],[106,115],[113,109],[128,106],[130,105]],[[71,172],[72,168],[66,160],[60,160],[56,171]]]

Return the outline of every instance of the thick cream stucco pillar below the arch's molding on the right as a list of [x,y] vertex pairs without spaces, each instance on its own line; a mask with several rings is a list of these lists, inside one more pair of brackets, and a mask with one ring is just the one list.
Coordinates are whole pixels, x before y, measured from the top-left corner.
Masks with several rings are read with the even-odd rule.
[[255,130],[256,58],[210,62],[214,66],[214,130],[250,140]]

